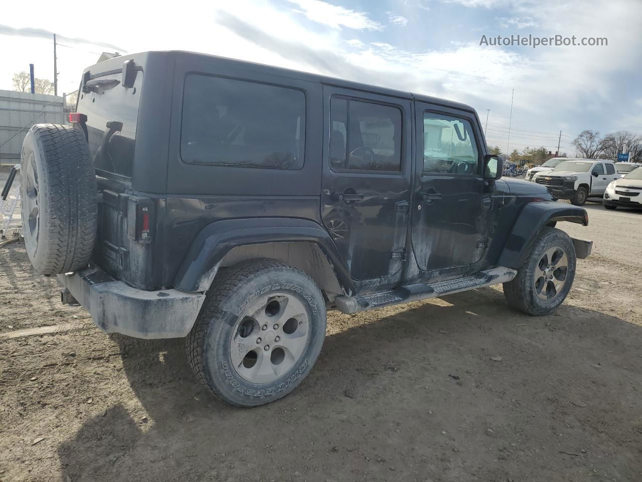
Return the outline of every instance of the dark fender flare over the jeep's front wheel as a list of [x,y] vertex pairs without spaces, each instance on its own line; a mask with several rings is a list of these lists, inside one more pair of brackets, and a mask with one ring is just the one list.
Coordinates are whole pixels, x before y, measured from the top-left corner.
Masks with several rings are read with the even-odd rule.
[[588,226],[589,215],[584,208],[562,202],[529,202],[517,215],[499,256],[498,265],[517,269],[528,258],[537,234],[552,221],[570,221]]

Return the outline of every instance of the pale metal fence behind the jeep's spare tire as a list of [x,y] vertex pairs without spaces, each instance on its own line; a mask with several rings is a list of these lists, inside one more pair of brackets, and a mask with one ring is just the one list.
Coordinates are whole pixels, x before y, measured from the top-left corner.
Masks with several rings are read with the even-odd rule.
[[67,123],[62,97],[0,90],[0,163],[17,163],[27,131],[42,122]]

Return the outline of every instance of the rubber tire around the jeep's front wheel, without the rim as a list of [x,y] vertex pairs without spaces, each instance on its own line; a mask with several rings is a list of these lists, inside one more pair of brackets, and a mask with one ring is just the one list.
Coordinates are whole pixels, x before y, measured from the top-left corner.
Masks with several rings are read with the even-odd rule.
[[[553,246],[560,247],[568,256],[568,271],[558,296],[550,301],[544,301],[535,292],[535,270],[542,255]],[[503,283],[504,295],[508,304],[530,315],[550,314],[564,302],[569,290],[571,290],[575,279],[576,262],[575,246],[569,235],[557,228],[546,227],[542,229],[528,258],[526,258],[526,262],[517,270],[517,276],[508,283]]]

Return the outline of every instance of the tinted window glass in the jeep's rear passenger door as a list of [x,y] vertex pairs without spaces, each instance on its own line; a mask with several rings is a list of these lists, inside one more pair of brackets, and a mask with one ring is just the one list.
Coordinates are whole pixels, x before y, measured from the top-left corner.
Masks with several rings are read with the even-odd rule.
[[333,170],[401,170],[401,110],[333,97],[330,101]]

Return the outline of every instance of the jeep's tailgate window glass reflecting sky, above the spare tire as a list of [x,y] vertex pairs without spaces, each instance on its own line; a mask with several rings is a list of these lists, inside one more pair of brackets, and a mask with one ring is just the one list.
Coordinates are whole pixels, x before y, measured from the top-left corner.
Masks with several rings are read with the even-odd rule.
[[137,71],[134,87],[128,89],[121,84],[122,78],[119,72],[95,79],[114,82],[80,94],[78,112],[87,115],[89,152],[96,169],[103,174],[132,177],[143,72]]

